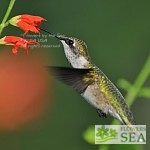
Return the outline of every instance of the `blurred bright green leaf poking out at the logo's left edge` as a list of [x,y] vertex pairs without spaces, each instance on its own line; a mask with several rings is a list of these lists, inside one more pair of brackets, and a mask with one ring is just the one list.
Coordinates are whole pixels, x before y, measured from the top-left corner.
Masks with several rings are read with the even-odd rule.
[[95,144],[95,126],[90,126],[83,133],[83,138],[89,144]]

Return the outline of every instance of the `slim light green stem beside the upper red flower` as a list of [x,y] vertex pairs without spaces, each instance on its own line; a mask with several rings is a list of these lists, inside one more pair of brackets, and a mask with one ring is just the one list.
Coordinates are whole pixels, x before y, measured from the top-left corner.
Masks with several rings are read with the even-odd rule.
[[2,22],[0,24],[0,35],[1,35],[2,31],[3,31],[3,29],[8,25],[8,23],[6,21],[7,21],[9,15],[11,13],[11,10],[12,10],[12,8],[14,6],[15,1],[16,0],[11,0],[10,3],[9,3],[9,6],[8,6],[7,11],[5,13],[5,16],[4,16],[4,18],[3,18],[3,20],[2,20]]

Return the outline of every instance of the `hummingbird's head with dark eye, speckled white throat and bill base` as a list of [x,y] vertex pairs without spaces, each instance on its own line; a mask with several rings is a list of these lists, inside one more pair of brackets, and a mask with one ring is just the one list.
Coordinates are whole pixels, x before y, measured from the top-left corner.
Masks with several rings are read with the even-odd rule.
[[63,44],[65,55],[74,68],[90,67],[90,57],[85,42],[62,35],[55,34],[54,36]]

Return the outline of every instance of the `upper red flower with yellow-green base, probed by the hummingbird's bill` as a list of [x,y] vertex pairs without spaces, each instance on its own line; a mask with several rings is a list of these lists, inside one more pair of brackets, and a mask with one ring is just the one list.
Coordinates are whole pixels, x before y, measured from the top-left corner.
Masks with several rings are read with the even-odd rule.
[[40,31],[39,27],[42,21],[44,20],[45,19],[40,16],[32,16],[24,14],[11,18],[9,20],[9,23],[24,30],[25,34],[27,34],[29,31],[39,33]]

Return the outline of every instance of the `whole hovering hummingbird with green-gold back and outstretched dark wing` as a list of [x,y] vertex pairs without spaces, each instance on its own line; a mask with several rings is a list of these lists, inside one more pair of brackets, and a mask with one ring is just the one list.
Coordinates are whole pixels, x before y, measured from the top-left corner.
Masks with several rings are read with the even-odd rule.
[[110,115],[122,124],[135,125],[133,114],[124,97],[92,62],[86,43],[78,38],[48,33],[62,43],[65,56],[72,66],[70,68],[49,66],[48,69],[94,106],[100,117]]

